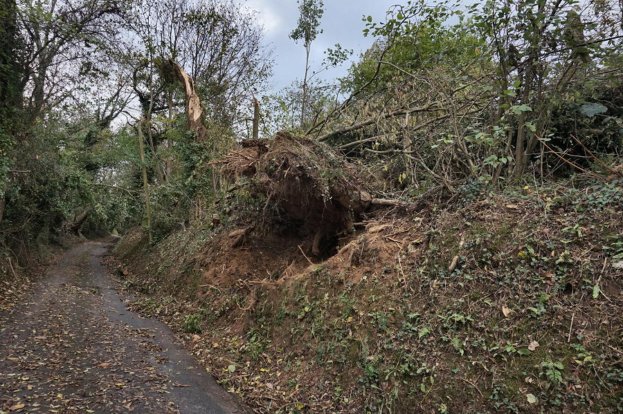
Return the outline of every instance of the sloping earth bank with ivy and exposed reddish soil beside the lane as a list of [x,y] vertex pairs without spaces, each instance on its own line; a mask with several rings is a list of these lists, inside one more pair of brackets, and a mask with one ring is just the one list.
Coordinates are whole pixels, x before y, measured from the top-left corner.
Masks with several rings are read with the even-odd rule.
[[614,413],[617,186],[465,187],[363,213],[325,257],[267,226],[232,247],[231,222],[152,247],[136,229],[116,253],[133,309],[259,413]]

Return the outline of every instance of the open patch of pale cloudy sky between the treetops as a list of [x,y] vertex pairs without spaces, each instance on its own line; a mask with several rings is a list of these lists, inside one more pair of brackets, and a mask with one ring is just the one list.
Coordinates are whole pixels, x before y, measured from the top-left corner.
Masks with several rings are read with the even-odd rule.
[[[406,3],[406,1],[403,1]],[[387,10],[397,4],[390,0],[325,0],[320,29],[323,33],[311,44],[309,54],[310,70],[318,70],[327,48],[340,44],[348,50],[353,49],[353,59],[367,50],[374,38],[363,37],[365,23],[363,16],[372,16],[374,21],[384,21]],[[247,0],[245,6],[260,12],[260,21],[266,31],[265,42],[274,48],[276,64],[273,68],[273,91],[288,86],[294,79],[305,75],[305,47],[301,41],[296,44],[288,35],[298,22],[298,3],[296,0]],[[350,63],[322,73],[327,79],[346,74]]]

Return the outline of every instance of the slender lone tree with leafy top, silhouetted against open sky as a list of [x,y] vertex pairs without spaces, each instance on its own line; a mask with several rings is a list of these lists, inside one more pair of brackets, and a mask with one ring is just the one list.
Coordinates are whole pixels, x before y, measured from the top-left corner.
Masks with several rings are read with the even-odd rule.
[[300,16],[298,17],[298,26],[290,33],[290,39],[298,43],[303,40],[305,46],[305,77],[303,77],[303,102],[300,106],[300,128],[303,129],[305,122],[305,101],[307,100],[307,72],[309,71],[309,51],[311,50],[311,42],[316,39],[320,19],[323,17],[325,10],[323,9],[322,0],[300,0],[297,1]]

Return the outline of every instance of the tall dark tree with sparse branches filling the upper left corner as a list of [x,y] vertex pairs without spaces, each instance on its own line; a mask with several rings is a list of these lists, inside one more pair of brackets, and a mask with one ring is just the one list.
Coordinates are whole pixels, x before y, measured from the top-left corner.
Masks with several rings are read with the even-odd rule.
[[0,193],[15,178],[9,166],[21,169],[26,147],[36,147],[28,132],[83,90],[121,11],[113,0],[0,2]]

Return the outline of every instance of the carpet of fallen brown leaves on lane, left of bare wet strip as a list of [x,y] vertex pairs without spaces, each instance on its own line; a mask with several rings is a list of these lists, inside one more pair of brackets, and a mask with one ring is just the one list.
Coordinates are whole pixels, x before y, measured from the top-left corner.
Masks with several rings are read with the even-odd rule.
[[0,413],[179,413],[138,332],[111,321],[93,288],[60,283],[89,258],[2,297]]

